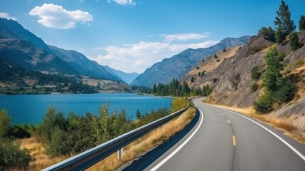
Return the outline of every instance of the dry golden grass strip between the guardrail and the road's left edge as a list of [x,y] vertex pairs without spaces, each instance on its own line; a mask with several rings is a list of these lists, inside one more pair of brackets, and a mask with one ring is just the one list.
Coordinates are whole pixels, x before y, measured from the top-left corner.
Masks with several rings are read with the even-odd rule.
[[90,167],[88,170],[115,170],[127,162],[132,162],[132,160],[143,155],[144,152],[161,145],[162,142],[183,130],[195,115],[195,108],[188,108],[188,110],[186,110],[186,112],[180,117],[171,120],[163,127],[151,131],[151,133],[145,135],[143,138],[140,138],[139,140],[132,142],[130,145],[127,145],[127,147],[124,147],[124,157],[122,160],[118,160],[117,153],[114,153],[98,162],[96,165]]

